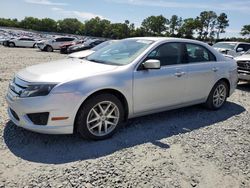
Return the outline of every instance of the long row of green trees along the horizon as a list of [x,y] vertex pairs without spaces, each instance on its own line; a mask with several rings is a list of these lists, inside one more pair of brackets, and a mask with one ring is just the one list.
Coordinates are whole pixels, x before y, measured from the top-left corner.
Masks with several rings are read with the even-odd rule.
[[[122,39],[138,36],[182,37],[203,41],[213,41],[226,32],[229,19],[225,13],[217,15],[213,11],[203,11],[196,18],[183,19],[177,15],[169,19],[163,15],[145,18],[140,27],[125,20],[124,23],[112,23],[99,17],[80,22],[76,18],[55,21],[50,18],[38,19],[25,17],[23,20],[0,18],[0,26],[31,29],[43,32],[58,32],[94,37]],[[250,35],[250,25],[245,25],[241,34]]]

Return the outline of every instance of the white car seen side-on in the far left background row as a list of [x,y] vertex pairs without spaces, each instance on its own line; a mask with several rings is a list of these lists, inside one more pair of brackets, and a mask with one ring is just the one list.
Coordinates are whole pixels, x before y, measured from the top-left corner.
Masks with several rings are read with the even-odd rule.
[[20,37],[8,41],[9,47],[29,47],[35,48],[38,41],[29,37]]

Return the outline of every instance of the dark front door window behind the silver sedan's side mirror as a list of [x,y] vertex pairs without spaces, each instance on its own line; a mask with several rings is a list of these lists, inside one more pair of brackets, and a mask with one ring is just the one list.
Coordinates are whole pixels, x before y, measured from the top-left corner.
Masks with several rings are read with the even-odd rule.
[[183,62],[183,44],[163,44],[153,50],[147,59],[157,59],[161,62],[161,66],[180,64]]

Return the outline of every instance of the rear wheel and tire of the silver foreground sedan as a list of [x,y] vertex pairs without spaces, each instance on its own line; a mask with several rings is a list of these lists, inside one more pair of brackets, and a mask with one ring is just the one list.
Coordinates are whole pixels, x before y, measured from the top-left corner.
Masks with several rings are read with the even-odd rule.
[[205,103],[206,107],[211,110],[220,109],[227,100],[228,92],[229,86],[225,81],[220,80],[217,82],[209,93]]

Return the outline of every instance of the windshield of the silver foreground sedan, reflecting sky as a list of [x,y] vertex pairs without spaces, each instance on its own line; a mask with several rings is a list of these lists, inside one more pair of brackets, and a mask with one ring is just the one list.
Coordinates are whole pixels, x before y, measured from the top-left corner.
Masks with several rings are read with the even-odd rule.
[[127,65],[135,60],[153,41],[143,39],[126,39],[110,44],[86,59],[89,61],[111,64]]

